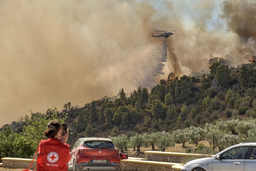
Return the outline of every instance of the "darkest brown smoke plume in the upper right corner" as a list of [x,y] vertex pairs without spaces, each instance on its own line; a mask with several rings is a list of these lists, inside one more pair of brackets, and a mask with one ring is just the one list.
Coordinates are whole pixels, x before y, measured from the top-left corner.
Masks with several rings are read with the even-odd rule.
[[253,0],[229,0],[224,3],[228,29],[235,32],[241,41],[240,54],[250,61],[256,54],[256,2]]

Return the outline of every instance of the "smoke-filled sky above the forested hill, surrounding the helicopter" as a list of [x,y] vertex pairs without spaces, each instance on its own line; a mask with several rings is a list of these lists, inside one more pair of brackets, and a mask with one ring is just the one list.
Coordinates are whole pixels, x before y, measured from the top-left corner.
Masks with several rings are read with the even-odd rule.
[[[0,126],[256,52],[252,0],[0,1]],[[167,43],[153,30],[177,30]],[[153,34],[161,34],[153,32]],[[164,66],[166,65],[166,66]]]

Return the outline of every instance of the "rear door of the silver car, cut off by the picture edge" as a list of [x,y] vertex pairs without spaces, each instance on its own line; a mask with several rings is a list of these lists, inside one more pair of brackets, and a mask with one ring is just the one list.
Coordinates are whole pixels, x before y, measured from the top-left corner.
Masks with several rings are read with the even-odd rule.
[[256,145],[252,145],[244,163],[244,171],[256,170]]

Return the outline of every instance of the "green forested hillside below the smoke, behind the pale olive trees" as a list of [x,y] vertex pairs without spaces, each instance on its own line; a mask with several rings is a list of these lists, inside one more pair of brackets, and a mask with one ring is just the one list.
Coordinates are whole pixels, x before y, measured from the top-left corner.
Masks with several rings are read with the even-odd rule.
[[[1,156],[32,155],[40,139],[44,138],[45,124],[54,118],[68,123],[71,146],[83,136],[112,136],[114,139],[125,135],[129,139],[136,133],[174,135],[177,129],[195,127],[209,131],[215,123],[226,120],[237,125],[240,120],[255,119],[256,63],[230,67],[226,62],[222,58],[211,58],[210,70],[200,76],[183,75],[178,78],[175,73],[170,73],[151,91],[141,87],[128,94],[121,89],[115,98],[104,97],[84,107],[73,106],[69,102],[64,104],[62,111],[48,109],[45,113],[31,113],[31,116],[22,117],[1,129],[0,136],[4,137],[0,140]],[[250,122],[254,124],[254,120],[248,120]],[[207,132],[204,131],[201,132],[205,135]],[[231,135],[238,133],[236,130],[230,132]],[[16,146],[14,141],[18,143]],[[182,142],[181,139],[175,141]],[[194,143],[197,145],[197,142]],[[24,155],[26,149],[29,153]]]

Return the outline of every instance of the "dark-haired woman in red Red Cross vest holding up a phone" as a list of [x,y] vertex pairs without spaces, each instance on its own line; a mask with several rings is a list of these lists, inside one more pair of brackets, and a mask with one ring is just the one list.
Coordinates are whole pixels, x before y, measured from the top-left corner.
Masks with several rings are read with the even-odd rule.
[[62,125],[57,120],[50,121],[47,127],[44,135],[49,139],[38,145],[38,171],[67,171],[71,158],[70,146],[66,143],[69,133],[61,135]]

